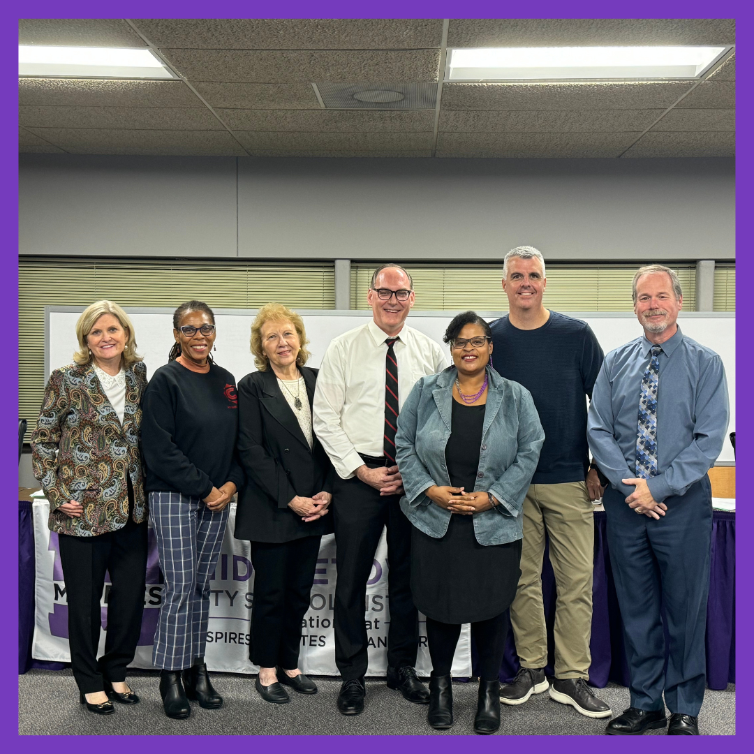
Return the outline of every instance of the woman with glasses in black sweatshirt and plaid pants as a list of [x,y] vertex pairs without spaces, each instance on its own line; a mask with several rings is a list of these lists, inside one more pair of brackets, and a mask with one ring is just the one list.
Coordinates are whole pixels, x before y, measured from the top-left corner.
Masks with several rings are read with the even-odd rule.
[[235,455],[238,397],[234,376],[213,362],[215,317],[189,301],[173,314],[175,345],[152,376],[143,401],[144,485],[165,578],[152,661],[161,668],[165,714],[191,714],[189,699],[222,706],[204,663],[210,577],[244,474]]

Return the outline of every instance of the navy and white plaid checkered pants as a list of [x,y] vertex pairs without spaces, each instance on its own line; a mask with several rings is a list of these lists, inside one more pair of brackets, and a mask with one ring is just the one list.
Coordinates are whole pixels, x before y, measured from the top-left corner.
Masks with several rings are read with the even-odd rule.
[[191,667],[204,656],[210,618],[210,576],[228,523],[228,507],[213,512],[199,498],[150,492],[165,590],[152,663],[164,670]]

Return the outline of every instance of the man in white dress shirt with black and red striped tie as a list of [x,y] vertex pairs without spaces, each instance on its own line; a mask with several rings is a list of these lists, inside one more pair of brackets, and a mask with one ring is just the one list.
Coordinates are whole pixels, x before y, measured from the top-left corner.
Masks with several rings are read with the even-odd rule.
[[333,516],[338,559],[336,664],[343,679],[338,709],[363,710],[367,636],[366,582],[388,528],[388,687],[425,704],[429,693],[414,666],[418,615],[411,596],[411,523],[400,510],[403,485],[395,465],[397,414],[415,382],[448,366],[440,345],[406,326],[414,305],[411,276],[399,265],[372,275],[372,320],[333,339],[314,393],[314,432],[338,473]]

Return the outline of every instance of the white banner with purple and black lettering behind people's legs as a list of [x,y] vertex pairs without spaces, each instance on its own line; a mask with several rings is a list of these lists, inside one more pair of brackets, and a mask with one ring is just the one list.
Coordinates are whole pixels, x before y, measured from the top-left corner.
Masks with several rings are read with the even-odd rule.
[[[68,646],[68,605],[57,534],[48,529],[49,504],[36,499],[34,512],[35,542],[35,630],[32,657],[35,660],[70,662]],[[256,673],[249,661],[250,621],[254,601],[254,573],[249,557],[249,543],[233,536],[235,504],[230,506],[228,529],[219,556],[210,591],[210,622],[207,627],[205,658],[210,670],[227,673]],[[369,676],[385,676],[387,670],[388,559],[385,532],[382,533],[369,582],[366,587],[366,621],[369,636]],[[336,547],[333,535],[322,538],[320,556],[311,587],[309,610],[305,615],[301,636],[299,667],[312,676],[338,676],[335,664],[333,605],[336,584]],[[100,654],[105,647],[109,576],[106,577],[102,599],[103,631],[100,633]],[[149,529],[144,617],[136,657],[131,667],[151,668],[152,639],[157,627],[162,591],[157,545],[152,527]],[[416,669],[428,676],[432,664],[427,648],[424,616],[419,615],[419,651]],[[455,651],[453,676],[471,675],[470,627],[464,625]]]

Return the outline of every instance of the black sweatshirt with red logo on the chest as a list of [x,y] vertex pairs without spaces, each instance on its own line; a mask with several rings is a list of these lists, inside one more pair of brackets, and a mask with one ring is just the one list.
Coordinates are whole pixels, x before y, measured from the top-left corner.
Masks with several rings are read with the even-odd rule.
[[211,364],[203,374],[170,361],[152,375],[141,405],[145,492],[206,498],[226,482],[241,489],[238,397],[227,369]]

